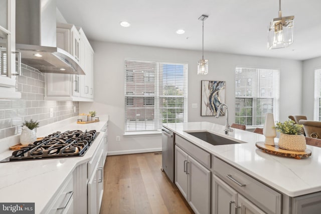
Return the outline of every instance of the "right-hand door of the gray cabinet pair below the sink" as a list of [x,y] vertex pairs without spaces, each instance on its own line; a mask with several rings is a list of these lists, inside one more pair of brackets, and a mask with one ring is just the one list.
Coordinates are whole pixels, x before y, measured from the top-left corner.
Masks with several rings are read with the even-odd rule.
[[211,210],[211,171],[189,156],[190,176],[189,203],[195,213],[210,213]]

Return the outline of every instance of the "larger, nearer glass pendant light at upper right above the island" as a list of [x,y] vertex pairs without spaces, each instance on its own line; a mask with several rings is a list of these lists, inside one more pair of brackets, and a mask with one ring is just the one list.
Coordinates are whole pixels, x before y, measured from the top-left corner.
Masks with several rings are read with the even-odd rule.
[[268,49],[286,48],[293,43],[294,16],[282,17],[279,0],[279,17],[272,20],[268,31]]

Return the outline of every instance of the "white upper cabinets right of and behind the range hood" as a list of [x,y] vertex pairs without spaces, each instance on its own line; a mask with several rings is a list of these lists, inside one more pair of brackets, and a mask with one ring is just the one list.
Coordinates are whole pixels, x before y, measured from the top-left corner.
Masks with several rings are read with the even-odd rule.
[[70,53],[85,75],[46,73],[45,99],[93,101],[94,52],[83,30],[71,24],[57,23],[57,47]]

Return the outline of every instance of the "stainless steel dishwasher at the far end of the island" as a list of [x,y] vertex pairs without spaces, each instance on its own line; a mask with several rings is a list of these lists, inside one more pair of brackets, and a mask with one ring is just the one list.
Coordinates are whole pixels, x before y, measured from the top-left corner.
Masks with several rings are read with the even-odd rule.
[[175,134],[162,127],[162,169],[174,183],[174,138]]

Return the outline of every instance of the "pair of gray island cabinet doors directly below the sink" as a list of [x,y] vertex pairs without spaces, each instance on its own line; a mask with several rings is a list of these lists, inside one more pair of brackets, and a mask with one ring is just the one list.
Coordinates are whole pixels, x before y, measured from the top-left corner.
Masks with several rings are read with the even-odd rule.
[[195,213],[210,213],[211,171],[175,146],[175,184]]

